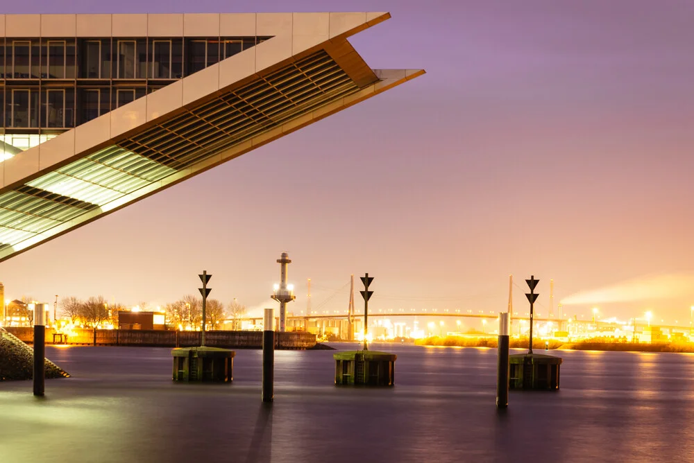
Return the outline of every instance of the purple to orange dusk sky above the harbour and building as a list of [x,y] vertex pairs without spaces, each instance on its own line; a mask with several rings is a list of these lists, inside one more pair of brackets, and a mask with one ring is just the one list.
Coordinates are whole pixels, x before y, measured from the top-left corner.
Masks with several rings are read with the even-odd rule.
[[[314,306],[369,272],[374,308],[503,311],[509,274],[539,278],[545,310],[550,278],[558,302],[675,275],[691,284],[628,302],[593,293],[566,312],[651,309],[688,323],[690,0],[26,0],[3,10],[387,10],[391,20],[353,37],[357,51],[374,68],[428,71],[2,263],[11,297],[164,304],[197,292],[205,269],[212,297],[261,306],[287,251],[295,311],[307,277]],[[346,304],[342,291],[324,308]],[[514,304],[527,310],[518,288]]]

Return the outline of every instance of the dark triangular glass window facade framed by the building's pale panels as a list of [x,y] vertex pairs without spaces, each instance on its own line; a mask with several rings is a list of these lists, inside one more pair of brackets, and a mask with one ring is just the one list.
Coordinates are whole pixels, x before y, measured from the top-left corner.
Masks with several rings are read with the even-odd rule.
[[0,160],[269,38],[0,38]]

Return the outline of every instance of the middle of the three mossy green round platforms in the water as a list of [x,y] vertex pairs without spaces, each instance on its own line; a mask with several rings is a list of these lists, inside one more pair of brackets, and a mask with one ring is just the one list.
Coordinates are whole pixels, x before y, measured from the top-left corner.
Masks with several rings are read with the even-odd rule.
[[336,385],[392,386],[395,384],[394,353],[380,351],[341,351],[335,358]]

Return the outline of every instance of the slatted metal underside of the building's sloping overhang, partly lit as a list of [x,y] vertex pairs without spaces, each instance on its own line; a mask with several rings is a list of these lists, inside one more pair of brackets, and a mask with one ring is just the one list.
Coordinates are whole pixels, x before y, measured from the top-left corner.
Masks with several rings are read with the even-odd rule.
[[321,49],[16,186],[0,194],[0,261],[15,247],[60,234],[69,222],[357,91]]

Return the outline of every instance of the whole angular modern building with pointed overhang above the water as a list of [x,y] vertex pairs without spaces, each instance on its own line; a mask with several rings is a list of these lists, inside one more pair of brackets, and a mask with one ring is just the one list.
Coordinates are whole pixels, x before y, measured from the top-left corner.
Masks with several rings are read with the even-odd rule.
[[0,15],[0,261],[420,76],[389,17]]

